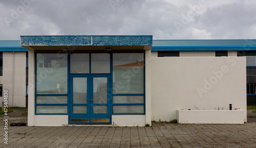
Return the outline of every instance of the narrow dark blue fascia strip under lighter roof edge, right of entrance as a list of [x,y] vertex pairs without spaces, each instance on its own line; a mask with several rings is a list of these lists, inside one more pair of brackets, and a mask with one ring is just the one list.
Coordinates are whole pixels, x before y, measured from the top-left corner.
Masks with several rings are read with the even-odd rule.
[[237,51],[256,50],[256,46],[153,46],[151,51]]

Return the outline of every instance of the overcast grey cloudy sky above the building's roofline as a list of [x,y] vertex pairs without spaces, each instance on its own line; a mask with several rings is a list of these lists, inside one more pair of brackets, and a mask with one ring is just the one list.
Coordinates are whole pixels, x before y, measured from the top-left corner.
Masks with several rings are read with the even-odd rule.
[[41,35],[256,39],[255,0],[0,0],[0,40]]

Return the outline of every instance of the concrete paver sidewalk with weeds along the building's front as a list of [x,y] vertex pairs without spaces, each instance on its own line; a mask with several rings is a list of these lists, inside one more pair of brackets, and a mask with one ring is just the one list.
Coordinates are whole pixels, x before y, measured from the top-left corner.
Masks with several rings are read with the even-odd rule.
[[[8,122],[27,120],[9,117]],[[256,147],[256,123],[153,123],[152,127],[8,127],[0,147]]]

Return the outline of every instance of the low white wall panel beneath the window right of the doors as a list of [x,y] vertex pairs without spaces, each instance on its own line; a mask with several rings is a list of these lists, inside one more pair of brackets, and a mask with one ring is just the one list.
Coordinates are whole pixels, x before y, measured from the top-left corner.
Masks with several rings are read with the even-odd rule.
[[145,126],[145,115],[112,115],[112,124],[117,126]]

